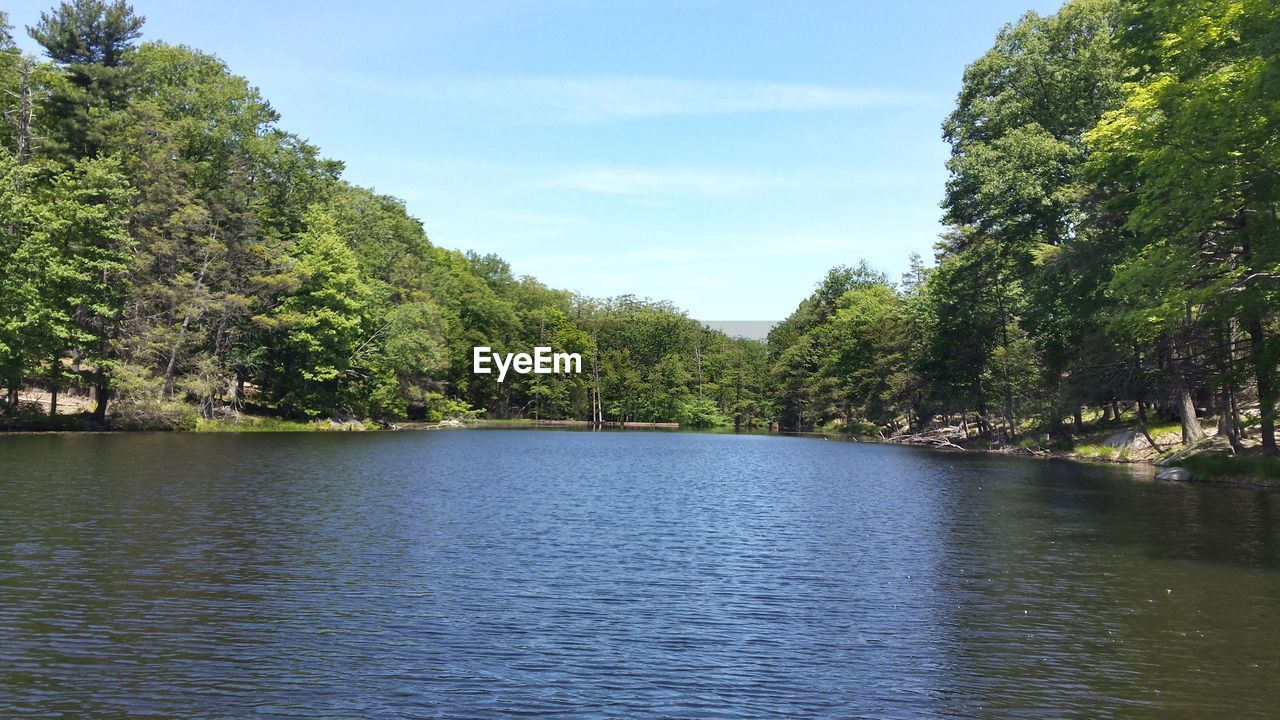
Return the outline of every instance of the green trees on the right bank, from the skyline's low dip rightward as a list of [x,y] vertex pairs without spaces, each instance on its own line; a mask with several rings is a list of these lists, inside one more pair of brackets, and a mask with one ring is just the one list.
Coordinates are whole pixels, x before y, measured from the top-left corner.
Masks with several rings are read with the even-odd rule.
[[1280,5],[1029,13],[943,136],[934,264],[836,268],[769,336],[783,425],[1070,441],[1130,407],[1276,454]]

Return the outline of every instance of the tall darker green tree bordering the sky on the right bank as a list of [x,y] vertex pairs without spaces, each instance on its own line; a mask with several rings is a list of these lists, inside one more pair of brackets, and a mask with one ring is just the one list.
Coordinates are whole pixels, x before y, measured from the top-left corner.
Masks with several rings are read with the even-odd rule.
[[[1083,133],[1119,97],[1115,14],[1114,0],[1074,0],[1055,15],[1029,13],[1006,26],[965,70],[943,126],[951,145],[943,209],[955,232],[940,245],[940,260],[947,266],[955,258],[973,272],[936,274],[931,293],[966,305],[946,313],[956,342],[980,340],[973,352],[941,352],[937,361],[963,364],[946,374],[968,374],[961,382],[980,387],[969,402],[998,397],[1009,433],[1028,402],[1057,418],[1084,401],[1066,379],[1085,364],[1078,350],[1097,324],[1106,255],[1097,252],[1105,238],[1083,224]],[[948,282],[961,284],[942,287]],[[1020,348],[1023,337],[1033,347]],[[1016,387],[1028,360],[1042,378],[1020,384],[1038,388],[1038,397]]]

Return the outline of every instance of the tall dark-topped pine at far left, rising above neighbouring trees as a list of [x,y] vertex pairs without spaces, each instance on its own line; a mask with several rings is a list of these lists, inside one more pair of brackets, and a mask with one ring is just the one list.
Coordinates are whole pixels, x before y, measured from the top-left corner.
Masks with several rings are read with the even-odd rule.
[[65,354],[90,363],[97,420],[105,419],[110,372],[119,357],[116,340],[133,245],[125,228],[133,192],[118,160],[104,149],[119,128],[119,110],[128,99],[127,58],[142,22],[119,0],[74,0],[42,13],[27,28],[61,70],[47,78],[41,113],[44,155],[61,170],[46,186],[49,217],[41,232],[47,251],[38,254],[46,263],[36,268],[46,273],[51,293],[46,307],[56,316],[69,315],[73,323],[44,327],[44,356],[51,363],[54,388]]

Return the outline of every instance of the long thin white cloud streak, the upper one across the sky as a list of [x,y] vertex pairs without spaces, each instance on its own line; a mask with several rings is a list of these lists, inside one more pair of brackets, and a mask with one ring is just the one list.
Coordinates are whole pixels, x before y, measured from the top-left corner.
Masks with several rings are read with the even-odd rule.
[[859,110],[915,105],[920,94],[824,85],[658,76],[436,78],[365,87],[424,104],[481,109],[506,123],[603,123],[666,115]]

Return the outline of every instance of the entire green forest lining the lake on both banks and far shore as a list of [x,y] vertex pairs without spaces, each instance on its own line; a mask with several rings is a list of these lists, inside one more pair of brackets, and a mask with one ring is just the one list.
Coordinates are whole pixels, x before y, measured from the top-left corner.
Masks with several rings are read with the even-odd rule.
[[[433,245],[216,56],[140,44],[142,23],[64,3],[27,28],[36,59],[0,14],[9,427],[483,414],[959,423],[1012,445],[1128,414],[1276,452],[1274,0],[1074,0],[1006,26],[942,127],[932,261],[835,268],[763,342]],[[579,352],[585,372],[497,383],[471,373],[477,345]],[[58,415],[72,398],[84,411]]]

